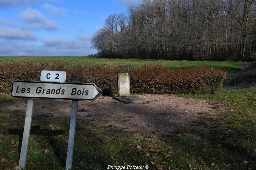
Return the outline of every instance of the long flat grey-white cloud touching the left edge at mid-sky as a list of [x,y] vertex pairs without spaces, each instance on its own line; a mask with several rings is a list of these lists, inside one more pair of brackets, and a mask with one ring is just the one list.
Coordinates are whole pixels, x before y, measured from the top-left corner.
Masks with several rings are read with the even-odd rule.
[[0,38],[16,40],[36,40],[37,36],[29,31],[18,28],[0,27]]

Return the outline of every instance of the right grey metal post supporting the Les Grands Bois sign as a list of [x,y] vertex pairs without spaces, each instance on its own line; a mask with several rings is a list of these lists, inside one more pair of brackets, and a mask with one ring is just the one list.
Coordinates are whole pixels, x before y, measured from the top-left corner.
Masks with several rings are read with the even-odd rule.
[[78,101],[72,101],[70,127],[69,127],[69,142],[68,142],[68,151],[67,151],[67,160],[66,160],[66,170],[71,169],[71,167],[72,167],[74,140],[75,140],[75,125],[76,125],[77,105],[78,105]]

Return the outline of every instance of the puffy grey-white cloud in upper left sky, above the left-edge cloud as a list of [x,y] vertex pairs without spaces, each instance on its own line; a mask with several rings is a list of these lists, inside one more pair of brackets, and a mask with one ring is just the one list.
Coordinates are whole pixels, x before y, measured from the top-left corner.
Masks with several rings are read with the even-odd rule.
[[31,8],[27,8],[27,10],[21,12],[19,16],[25,22],[25,27],[33,30],[57,30],[58,28],[60,28],[57,22],[47,19],[47,17],[38,10],[32,10]]

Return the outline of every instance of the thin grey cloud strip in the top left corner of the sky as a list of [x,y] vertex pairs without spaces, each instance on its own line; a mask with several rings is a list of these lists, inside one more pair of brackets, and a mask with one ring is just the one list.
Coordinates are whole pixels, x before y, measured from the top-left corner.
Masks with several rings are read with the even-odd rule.
[[0,0],[0,8],[17,8],[37,3],[38,0]]

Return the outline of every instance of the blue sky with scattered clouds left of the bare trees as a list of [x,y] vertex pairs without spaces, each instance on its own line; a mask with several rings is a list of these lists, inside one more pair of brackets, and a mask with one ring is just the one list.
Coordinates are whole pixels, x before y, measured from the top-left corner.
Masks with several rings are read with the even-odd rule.
[[0,56],[97,53],[90,39],[115,13],[141,0],[0,0]]

